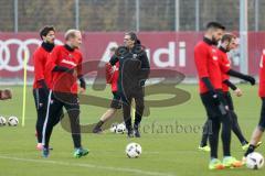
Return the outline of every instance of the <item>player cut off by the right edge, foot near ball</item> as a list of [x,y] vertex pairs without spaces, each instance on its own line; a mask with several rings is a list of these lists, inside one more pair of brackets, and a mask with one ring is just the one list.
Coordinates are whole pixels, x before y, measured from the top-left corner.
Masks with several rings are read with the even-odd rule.
[[258,145],[258,142],[262,139],[264,130],[265,130],[265,51],[263,51],[263,55],[262,55],[261,63],[259,63],[258,96],[262,99],[261,118],[259,118],[259,122],[258,122],[256,129],[253,131],[252,139],[250,141],[250,146],[248,146],[243,160],[245,160],[245,157],[250,153],[255,151],[255,148]]

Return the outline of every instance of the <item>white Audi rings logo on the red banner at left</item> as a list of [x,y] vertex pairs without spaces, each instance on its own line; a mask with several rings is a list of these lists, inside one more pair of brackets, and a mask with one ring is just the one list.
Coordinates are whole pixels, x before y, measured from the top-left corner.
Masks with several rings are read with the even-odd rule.
[[[38,38],[28,38],[21,41],[19,38],[0,40],[0,70],[19,72],[23,69],[24,59],[26,61],[26,70],[33,72],[34,67],[29,65],[33,52],[29,46],[35,45],[35,48],[41,45]],[[55,41],[55,44],[63,44],[61,41]],[[17,45],[17,50],[11,50],[12,45]],[[17,62],[13,62],[15,59]],[[15,63],[15,64],[13,64]]]

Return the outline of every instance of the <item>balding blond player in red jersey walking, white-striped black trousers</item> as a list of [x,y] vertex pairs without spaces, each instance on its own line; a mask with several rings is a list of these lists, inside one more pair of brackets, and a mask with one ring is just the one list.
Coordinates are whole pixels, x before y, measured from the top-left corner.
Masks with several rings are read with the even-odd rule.
[[77,79],[81,82],[81,94],[85,92],[86,84],[82,74],[83,56],[80,52],[82,35],[77,30],[65,33],[65,45],[55,46],[50,55],[46,67],[52,70],[51,90],[49,94],[46,119],[43,127],[43,157],[49,156],[49,142],[56,114],[66,109],[74,142],[74,157],[88,154],[81,144],[80,101],[77,97]]

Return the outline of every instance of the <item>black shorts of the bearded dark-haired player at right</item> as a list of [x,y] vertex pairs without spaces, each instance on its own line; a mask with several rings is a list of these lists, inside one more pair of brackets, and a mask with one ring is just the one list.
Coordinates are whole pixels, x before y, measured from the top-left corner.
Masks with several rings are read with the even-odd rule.
[[[226,103],[226,101],[224,99],[223,92],[222,91],[218,91],[218,95],[219,95],[219,98],[220,98],[220,101],[222,102],[222,105],[223,106],[227,106],[227,103]],[[206,114],[208,114],[209,119],[223,116],[221,113],[221,110],[220,110],[220,107],[219,107],[220,105],[216,105],[214,102],[212,94],[204,92],[204,94],[201,94],[200,96],[201,96],[202,103],[203,103],[203,106],[204,106],[204,108],[206,110]]]

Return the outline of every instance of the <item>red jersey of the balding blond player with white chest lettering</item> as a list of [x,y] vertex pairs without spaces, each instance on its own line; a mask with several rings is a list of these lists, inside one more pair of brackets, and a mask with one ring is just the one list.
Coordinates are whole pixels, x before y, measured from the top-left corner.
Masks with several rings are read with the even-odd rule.
[[[83,56],[80,50],[68,50],[64,45],[55,46],[50,55],[46,68],[53,70],[55,66],[76,69],[82,75]],[[77,94],[77,76],[65,72],[53,72],[51,88],[53,91]]]

